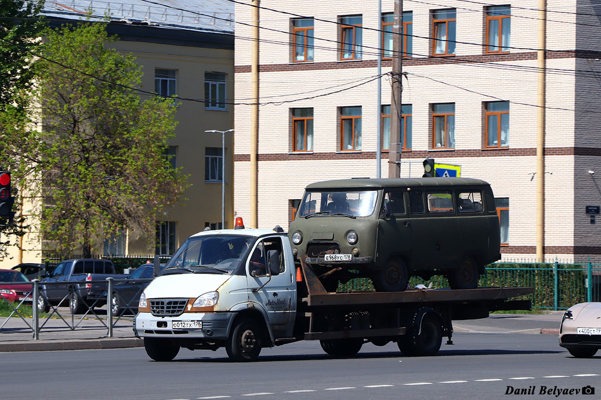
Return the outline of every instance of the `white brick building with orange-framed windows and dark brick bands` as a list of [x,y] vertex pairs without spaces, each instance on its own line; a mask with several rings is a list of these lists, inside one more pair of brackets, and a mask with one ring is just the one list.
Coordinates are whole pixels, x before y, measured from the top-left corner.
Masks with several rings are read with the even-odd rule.
[[[250,4],[236,5],[236,20],[251,23]],[[460,166],[463,177],[490,182],[504,260],[532,260],[540,179],[538,2],[487,4],[494,5],[403,2],[400,176],[421,176],[422,161],[434,158]],[[594,213],[601,205],[601,46],[595,40],[601,5],[546,4],[544,257],[594,259],[601,255],[601,221]],[[252,32],[236,27],[234,215],[249,218],[256,184],[258,227],[269,228],[290,223],[311,182],[376,178],[379,169],[388,177],[394,49],[387,32],[394,2],[382,1],[382,15],[376,0],[262,0],[260,6],[257,182],[250,173],[251,106],[240,104],[251,93]]]

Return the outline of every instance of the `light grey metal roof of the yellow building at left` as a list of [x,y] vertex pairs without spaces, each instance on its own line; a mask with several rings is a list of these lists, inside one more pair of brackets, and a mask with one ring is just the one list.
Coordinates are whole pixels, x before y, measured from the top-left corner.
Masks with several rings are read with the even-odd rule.
[[234,33],[234,3],[228,0],[46,0],[41,14],[58,19],[89,17],[92,21]]

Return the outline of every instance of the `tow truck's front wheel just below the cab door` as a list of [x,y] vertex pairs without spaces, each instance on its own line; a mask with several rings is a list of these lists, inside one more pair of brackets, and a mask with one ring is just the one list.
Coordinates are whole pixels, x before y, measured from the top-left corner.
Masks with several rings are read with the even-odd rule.
[[251,318],[234,322],[225,351],[233,361],[254,361],[261,353],[261,330]]

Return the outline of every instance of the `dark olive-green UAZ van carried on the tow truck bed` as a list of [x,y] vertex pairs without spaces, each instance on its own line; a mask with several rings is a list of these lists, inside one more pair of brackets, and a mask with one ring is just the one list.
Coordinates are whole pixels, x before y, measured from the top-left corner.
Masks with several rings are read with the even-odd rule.
[[317,182],[288,232],[329,291],[359,276],[377,291],[403,291],[412,275],[476,288],[484,266],[501,258],[495,199],[480,179]]

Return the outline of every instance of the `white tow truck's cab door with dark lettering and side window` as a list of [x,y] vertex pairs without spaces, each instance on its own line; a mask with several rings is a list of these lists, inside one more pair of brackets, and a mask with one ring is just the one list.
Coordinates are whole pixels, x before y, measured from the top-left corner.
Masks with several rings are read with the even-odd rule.
[[[267,270],[267,255],[270,250],[279,252],[279,275],[270,275]],[[273,335],[285,337],[291,335],[293,321],[291,306],[293,284],[288,269],[294,265],[285,262],[282,237],[267,237],[258,241],[252,249],[246,266],[249,302],[259,303],[267,312]],[[262,287],[261,287],[262,286]],[[254,291],[253,289],[258,289]]]

